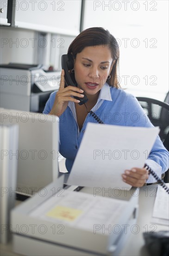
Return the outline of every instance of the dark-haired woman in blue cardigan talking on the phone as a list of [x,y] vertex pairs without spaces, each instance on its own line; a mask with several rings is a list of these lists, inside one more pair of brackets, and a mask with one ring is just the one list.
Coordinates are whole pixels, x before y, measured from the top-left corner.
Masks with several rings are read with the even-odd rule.
[[[44,108],[45,114],[57,115],[60,119],[60,153],[66,158],[66,168],[70,172],[80,146],[86,125],[95,122],[88,112],[92,110],[106,124],[122,126],[152,127],[145,117],[138,101],[120,88],[117,80],[119,46],[113,35],[102,27],[88,28],[70,44],[68,54],[74,58],[77,87],[65,88],[64,70],[61,73],[60,88],[52,93]],[[79,105],[74,96],[88,101]],[[150,152],[146,163],[161,176],[169,168],[169,152],[160,138]],[[124,182],[142,187],[147,182],[156,182],[145,168],[125,170]]]

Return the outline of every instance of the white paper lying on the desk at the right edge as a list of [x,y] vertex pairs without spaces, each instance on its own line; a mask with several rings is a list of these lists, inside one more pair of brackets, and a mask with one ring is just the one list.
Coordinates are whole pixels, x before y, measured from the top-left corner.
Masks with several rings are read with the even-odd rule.
[[[169,184],[167,184],[169,187]],[[158,185],[151,222],[169,225],[169,194]]]

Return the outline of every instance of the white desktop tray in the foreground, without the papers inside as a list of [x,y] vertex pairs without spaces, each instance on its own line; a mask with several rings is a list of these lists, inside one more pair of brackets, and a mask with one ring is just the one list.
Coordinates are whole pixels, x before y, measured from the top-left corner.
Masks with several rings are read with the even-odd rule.
[[[63,179],[63,176],[59,179]],[[63,191],[59,179],[46,187],[45,196],[36,194],[13,209],[11,232],[13,234],[14,252],[31,256],[118,255],[125,240],[132,232],[132,227],[137,226],[135,223],[138,216],[139,189],[133,188],[127,191],[109,188],[111,191],[105,192],[104,195],[102,193],[103,188],[100,188],[100,191],[97,190],[99,192],[95,196],[102,200],[103,205],[106,200],[110,200],[110,202],[117,200],[118,203],[126,203],[125,209],[116,216],[115,225],[120,227],[120,232],[112,228],[113,232],[111,234],[108,231],[94,233],[93,230],[64,223],[64,230],[61,232],[63,234],[61,234],[58,233],[59,230],[62,231],[61,221],[55,219],[54,222],[51,222],[31,214],[32,212],[41,212],[42,207],[47,210],[50,200],[53,200],[52,197],[57,197],[58,193]],[[65,188],[64,190],[67,193],[67,190],[71,191],[71,187],[68,186],[68,189]],[[91,196],[91,200],[93,200],[94,195],[91,195],[94,191],[93,188],[86,187],[81,191],[71,193],[75,193],[75,197],[82,194]],[[112,227],[113,225],[112,222]],[[53,227],[56,228],[55,232]]]

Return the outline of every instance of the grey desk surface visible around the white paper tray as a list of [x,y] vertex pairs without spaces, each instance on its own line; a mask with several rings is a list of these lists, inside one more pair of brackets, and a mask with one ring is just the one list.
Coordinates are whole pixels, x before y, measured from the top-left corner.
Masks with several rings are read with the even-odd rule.
[[[119,256],[149,256],[147,249],[144,247],[143,232],[169,230],[168,226],[153,224],[150,222],[153,206],[156,198],[157,185],[144,186],[138,190],[139,196],[139,210],[138,210],[138,229],[133,229],[131,235],[128,237],[124,248],[121,249]],[[92,188],[83,188],[81,192],[93,194]],[[99,194],[98,194],[99,195]],[[100,192],[102,195],[102,192]],[[105,194],[106,196],[106,194]],[[11,243],[3,245],[1,248],[2,256],[17,256],[12,252]]]

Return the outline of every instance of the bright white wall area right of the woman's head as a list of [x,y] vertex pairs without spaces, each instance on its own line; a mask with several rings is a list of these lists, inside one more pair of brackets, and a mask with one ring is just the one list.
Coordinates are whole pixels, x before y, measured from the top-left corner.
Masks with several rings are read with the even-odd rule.
[[169,91],[169,1],[86,0],[84,27],[104,27],[119,42],[122,88],[163,101]]

